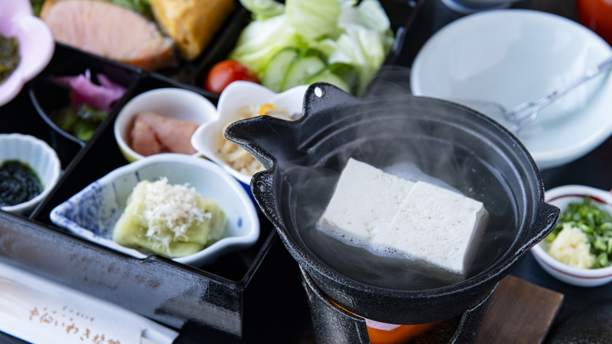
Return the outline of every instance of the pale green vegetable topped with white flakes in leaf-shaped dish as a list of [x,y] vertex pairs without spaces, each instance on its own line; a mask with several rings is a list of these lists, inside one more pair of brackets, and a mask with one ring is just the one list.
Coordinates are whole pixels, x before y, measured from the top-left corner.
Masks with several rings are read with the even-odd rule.
[[223,237],[227,220],[214,197],[168,178],[141,181],[113,230],[113,241],[170,258],[192,255]]

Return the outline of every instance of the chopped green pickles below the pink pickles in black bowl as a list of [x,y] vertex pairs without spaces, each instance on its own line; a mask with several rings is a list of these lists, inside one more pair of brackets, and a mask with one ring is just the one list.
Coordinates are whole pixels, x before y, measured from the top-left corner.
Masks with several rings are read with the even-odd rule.
[[53,113],[51,121],[79,140],[89,141],[94,136],[95,129],[107,117],[106,111],[83,103],[76,111],[72,107],[59,109]]

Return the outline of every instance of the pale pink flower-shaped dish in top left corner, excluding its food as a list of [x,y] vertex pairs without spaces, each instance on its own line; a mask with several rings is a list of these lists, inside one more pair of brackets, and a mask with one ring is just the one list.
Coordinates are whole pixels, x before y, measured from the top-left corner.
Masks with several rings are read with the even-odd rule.
[[29,0],[0,1],[0,34],[17,37],[21,61],[10,77],[0,84],[0,107],[17,96],[51,61],[55,42],[51,30],[32,15]]

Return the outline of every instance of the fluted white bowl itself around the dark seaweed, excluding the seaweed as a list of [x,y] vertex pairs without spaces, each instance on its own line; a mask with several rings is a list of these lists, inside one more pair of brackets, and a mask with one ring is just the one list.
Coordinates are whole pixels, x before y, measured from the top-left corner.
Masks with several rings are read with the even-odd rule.
[[0,134],[0,165],[7,160],[27,163],[42,182],[44,189],[40,195],[24,203],[0,207],[3,211],[28,214],[58,183],[61,174],[58,154],[45,141],[34,136],[19,133]]

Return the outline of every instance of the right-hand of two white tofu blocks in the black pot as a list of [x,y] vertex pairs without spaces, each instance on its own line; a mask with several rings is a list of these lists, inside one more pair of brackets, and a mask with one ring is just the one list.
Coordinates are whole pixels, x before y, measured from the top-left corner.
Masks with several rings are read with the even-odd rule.
[[389,227],[372,242],[465,274],[487,224],[483,204],[427,182],[417,182]]

